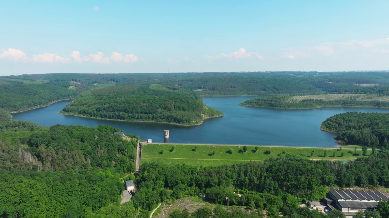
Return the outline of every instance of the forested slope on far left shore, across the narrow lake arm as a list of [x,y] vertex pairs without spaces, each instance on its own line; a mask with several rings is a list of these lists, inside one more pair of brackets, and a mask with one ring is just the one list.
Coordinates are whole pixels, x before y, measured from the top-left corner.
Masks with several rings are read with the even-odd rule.
[[11,112],[23,111],[78,95],[78,92],[65,88],[64,85],[64,83],[0,85],[0,108]]

